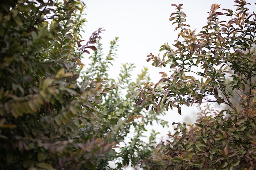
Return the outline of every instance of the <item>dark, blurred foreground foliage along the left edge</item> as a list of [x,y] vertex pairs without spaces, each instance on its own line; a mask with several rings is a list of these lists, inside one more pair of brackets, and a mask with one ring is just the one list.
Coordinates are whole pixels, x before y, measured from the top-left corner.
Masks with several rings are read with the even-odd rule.
[[80,87],[76,67],[86,49],[95,50],[91,44],[102,30],[76,47],[85,22],[79,1],[7,1],[1,7],[1,169],[95,167],[113,143],[80,129],[97,119],[102,89],[100,81],[90,82],[90,90]]

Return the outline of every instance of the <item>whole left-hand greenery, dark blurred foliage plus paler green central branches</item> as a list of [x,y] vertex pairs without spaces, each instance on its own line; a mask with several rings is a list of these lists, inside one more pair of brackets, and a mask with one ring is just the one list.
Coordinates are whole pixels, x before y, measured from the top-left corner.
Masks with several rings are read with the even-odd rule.
[[[103,170],[113,160],[120,160],[117,169],[164,165],[151,159],[155,133],[150,143],[141,137],[146,124],[166,122],[136,103],[130,87],[149,81],[147,70],[132,81],[133,66],[124,64],[117,81],[108,78],[117,39],[106,57],[102,28],[83,40],[84,11],[79,0],[1,2],[0,169]],[[90,64],[83,64],[88,54]],[[135,137],[115,151],[128,134]]]

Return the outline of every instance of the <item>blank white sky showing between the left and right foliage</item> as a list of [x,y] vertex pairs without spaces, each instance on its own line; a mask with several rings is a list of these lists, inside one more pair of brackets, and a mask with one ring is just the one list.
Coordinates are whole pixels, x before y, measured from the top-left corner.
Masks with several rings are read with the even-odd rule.
[[[200,31],[207,23],[208,13],[211,4],[221,4],[220,9],[233,8],[234,0],[83,0],[87,5],[87,23],[83,39],[88,39],[92,32],[99,27],[106,31],[101,35],[101,43],[108,52],[109,42],[115,37],[119,37],[119,48],[117,49],[117,59],[110,76],[115,78],[119,74],[121,63],[135,63],[136,69],[132,73],[134,76],[140,72],[143,66],[150,70],[151,79],[157,82],[160,79],[160,71],[168,72],[168,68],[154,68],[151,63],[147,63],[147,55],[159,53],[160,46],[164,43],[173,44],[177,39],[179,31],[174,32],[175,26],[168,19],[171,13],[175,12],[175,7],[171,4],[183,4],[183,12],[187,15],[187,24],[191,30]],[[247,6],[255,11],[254,0],[247,0],[252,5]],[[192,109],[193,110],[193,109]],[[167,113],[165,119],[172,122],[182,122],[184,116],[192,115],[195,111],[191,108],[183,110],[183,116],[177,111]],[[157,129],[155,129],[157,130]],[[165,136],[168,130],[162,131]]]

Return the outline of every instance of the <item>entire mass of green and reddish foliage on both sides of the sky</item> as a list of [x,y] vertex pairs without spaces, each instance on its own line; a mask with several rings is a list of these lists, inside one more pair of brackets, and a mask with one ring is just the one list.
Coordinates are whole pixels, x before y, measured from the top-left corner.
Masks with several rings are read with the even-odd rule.
[[[103,28],[82,37],[83,2],[1,2],[0,169],[256,168],[256,14],[247,8],[254,4],[234,2],[235,11],[213,4],[199,33],[172,4],[177,40],[147,59],[170,67],[156,84],[147,68],[132,78],[132,63],[109,77],[118,38],[103,54]],[[195,104],[195,124],[174,122],[160,144],[155,131],[143,139],[146,125],[167,125],[160,116],[168,109]]]

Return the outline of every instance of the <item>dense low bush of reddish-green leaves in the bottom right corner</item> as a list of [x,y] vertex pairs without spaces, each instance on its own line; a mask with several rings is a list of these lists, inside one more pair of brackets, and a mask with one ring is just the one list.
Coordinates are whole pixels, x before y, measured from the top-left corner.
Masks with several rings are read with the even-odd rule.
[[[158,144],[166,155],[166,169],[254,169],[255,168],[255,111],[223,110],[217,116],[207,105],[201,110],[197,123],[187,129],[177,123],[175,133],[166,144]],[[173,123],[175,124],[175,123]]]

